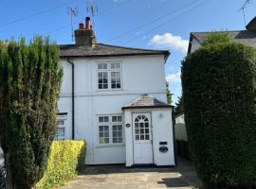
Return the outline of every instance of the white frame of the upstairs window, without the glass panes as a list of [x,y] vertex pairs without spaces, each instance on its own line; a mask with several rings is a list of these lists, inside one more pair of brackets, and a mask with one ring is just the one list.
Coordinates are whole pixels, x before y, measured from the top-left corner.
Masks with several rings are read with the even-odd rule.
[[[107,68],[106,69],[99,69],[99,64],[106,63]],[[119,68],[111,68],[111,64],[113,63],[119,63]],[[107,73],[107,88],[100,89],[99,88],[99,73],[106,72]],[[111,76],[112,73],[118,72],[120,75],[120,88],[112,88],[112,81]],[[97,89],[99,91],[120,91],[122,90],[122,62],[120,60],[113,60],[113,61],[97,61]]]

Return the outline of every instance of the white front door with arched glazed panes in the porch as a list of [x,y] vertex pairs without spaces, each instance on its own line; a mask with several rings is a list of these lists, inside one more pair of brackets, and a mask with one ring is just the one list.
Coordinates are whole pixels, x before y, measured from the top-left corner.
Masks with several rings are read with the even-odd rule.
[[151,113],[133,113],[134,163],[153,163]]

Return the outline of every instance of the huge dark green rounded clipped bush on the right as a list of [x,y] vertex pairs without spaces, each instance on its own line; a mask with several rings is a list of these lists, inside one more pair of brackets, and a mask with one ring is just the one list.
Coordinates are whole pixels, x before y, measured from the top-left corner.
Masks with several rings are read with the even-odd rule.
[[192,160],[208,188],[249,188],[256,166],[256,52],[208,43],[182,63]]

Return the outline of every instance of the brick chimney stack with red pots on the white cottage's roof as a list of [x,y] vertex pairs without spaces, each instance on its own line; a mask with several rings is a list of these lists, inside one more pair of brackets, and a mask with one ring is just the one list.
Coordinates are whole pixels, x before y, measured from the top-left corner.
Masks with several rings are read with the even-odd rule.
[[91,27],[90,17],[85,19],[85,28],[83,24],[79,24],[79,29],[75,30],[76,45],[92,46],[96,43],[96,37]]

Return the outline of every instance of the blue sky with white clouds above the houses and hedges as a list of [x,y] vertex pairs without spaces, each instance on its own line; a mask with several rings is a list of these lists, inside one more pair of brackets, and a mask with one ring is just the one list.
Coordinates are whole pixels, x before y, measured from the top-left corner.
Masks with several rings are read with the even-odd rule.
[[[166,77],[174,94],[181,93],[180,61],[186,56],[190,32],[245,29],[246,0],[94,0],[97,40],[116,45],[169,49]],[[88,15],[87,0],[0,1],[0,39],[50,35],[57,43],[71,41],[67,7],[78,9],[74,28]],[[256,2],[247,5],[247,22],[256,16]],[[253,11],[254,10],[254,11]]]

